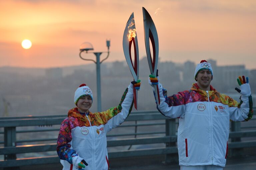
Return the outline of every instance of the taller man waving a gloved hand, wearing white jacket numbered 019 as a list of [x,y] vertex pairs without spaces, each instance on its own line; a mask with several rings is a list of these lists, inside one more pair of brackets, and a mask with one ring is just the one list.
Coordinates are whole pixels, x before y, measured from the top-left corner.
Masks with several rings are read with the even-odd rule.
[[230,120],[248,121],[252,118],[248,77],[237,79],[240,103],[216,91],[210,85],[212,79],[211,64],[202,60],[195,69],[197,83],[190,90],[167,97],[158,77],[150,75],[149,84],[159,87],[159,112],[170,118],[180,118],[178,154],[181,170],[223,170],[228,154]]

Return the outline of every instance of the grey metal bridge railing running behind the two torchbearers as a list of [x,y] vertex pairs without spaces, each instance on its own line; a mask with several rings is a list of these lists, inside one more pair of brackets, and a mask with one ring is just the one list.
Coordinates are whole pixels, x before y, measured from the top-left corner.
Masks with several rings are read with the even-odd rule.
[[[255,108],[254,108],[255,109]],[[4,140],[0,141],[0,144],[4,145],[0,147],[0,155],[4,155],[4,159],[0,160],[1,167],[19,167],[25,165],[35,164],[49,164],[59,163],[59,158],[56,153],[56,141],[57,136],[52,138],[32,138],[32,139],[19,139],[19,134],[29,133],[44,133],[44,132],[56,132],[59,128],[54,127],[60,125],[66,115],[51,115],[51,116],[24,116],[24,117],[3,117],[0,118],[0,128],[3,131],[0,135],[4,136]],[[163,116],[157,110],[153,111],[136,111],[132,112],[126,121],[113,129],[107,135],[108,148],[127,146],[123,149],[108,149],[109,158],[120,157],[132,157],[132,156],[145,156],[145,155],[166,155],[166,162],[173,162],[173,154],[177,154],[177,127],[178,119],[170,119]],[[243,123],[246,122],[232,122],[230,130],[230,142],[229,148],[231,153],[235,154],[236,149],[245,147],[256,147],[256,118],[255,115],[252,120],[254,123],[250,125],[250,130],[244,130]],[[25,127],[40,127],[39,129],[19,129]],[[144,128],[144,131],[138,131],[138,127]],[[150,128],[151,127],[151,128]],[[130,132],[125,132],[121,128],[130,129]],[[134,129],[133,129],[134,128]],[[149,130],[150,128],[150,130]],[[157,129],[154,131],[154,129]],[[159,131],[159,129],[161,131]],[[248,128],[246,128],[248,129]],[[125,130],[127,131],[127,130]],[[134,132],[133,132],[134,131]],[[24,135],[22,135],[24,136]],[[35,135],[36,136],[36,135]],[[46,135],[47,136],[47,135]],[[124,138],[126,137],[126,138]],[[242,138],[250,137],[250,140],[241,140]],[[29,144],[29,142],[42,142],[43,144]],[[55,143],[45,143],[45,141],[54,141]],[[24,144],[25,143],[25,144]],[[135,147],[131,149],[131,146],[140,146],[147,144],[158,144],[157,147],[149,146],[146,149],[140,149]],[[129,147],[130,146],[130,147]],[[54,151],[54,155],[50,156],[35,156],[35,157],[22,157],[17,158],[17,154],[24,153],[37,153],[37,152],[49,152]],[[241,149],[239,150],[241,152]]]

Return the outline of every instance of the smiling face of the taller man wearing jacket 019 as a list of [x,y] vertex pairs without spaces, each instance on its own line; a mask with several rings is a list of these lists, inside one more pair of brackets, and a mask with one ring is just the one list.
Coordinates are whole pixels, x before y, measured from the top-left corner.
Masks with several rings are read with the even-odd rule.
[[201,70],[198,72],[196,76],[197,85],[200,88],[208,88],[210,86],[210,83],[212,81],[212,74],[209,70]]

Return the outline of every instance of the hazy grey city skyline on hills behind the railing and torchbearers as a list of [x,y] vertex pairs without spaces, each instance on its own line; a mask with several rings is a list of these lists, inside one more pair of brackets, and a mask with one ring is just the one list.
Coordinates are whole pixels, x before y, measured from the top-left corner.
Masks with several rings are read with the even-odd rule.
[[[228,93],[239,101],[240,94],[235,90],[239,87],[238,76],[248,76],[252,93],[256,92],[256,69],[246,70],[244,66],[222,67],[212,62],[213,81],[211,85],[219,92]],[[194,79],[195,64],[186,62],[184,65],[173,62],[159,62],[160,83],[168,91],[168,95],[190,89]],[[95,64],[64,68],[5,68],[0,67],[0,116],[25,115],[33,110],[33,114],[63,114],[74,107],[74,91],[77,86],[85,83],[97,96]],[[141,89],[138,93],[140,110],[155,109],[152,88],[148,85],[150,74],[147,58],[140,60],[139,79]],[[85,74],[86,73],[86,74]],[[133,80],[126,62],[104,62],[101,65],[102,109],[116,106],[124,89]],[[117,82],[114,83],[113,82]],[[221,83],[220,83],[221,82]],[[115,94],[115,95],[113,95]],[[109,100],[109,96],[112,96]],[[253,95],[254,96],[254,95]],[[253,97],[256,101],[256,98]],[[96,111],[97,98],[92,111]],[[18,110],[18,111],[17,111]],[[31,113],[32,114],[32,113]]]

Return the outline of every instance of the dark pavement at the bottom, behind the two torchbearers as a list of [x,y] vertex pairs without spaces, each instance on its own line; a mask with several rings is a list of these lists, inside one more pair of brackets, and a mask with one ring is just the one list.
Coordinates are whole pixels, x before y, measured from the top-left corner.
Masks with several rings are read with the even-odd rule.
[[[110,159],[109,170],[180,170],[178,163],[166,165],[164,155]],[[20,170],[61,170],[61,164],[32,165]],[[0,170],[2,170],[0,168]],[[256,170],[256,153],[250,156],[228,158],[224,170]]]

